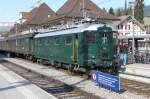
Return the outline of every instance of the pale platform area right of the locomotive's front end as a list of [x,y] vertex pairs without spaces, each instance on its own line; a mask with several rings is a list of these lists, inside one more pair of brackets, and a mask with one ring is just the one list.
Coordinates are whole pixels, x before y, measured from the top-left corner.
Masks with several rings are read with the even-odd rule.
[[122,67],[120,77],[150,84],[150,64],[129,64]]

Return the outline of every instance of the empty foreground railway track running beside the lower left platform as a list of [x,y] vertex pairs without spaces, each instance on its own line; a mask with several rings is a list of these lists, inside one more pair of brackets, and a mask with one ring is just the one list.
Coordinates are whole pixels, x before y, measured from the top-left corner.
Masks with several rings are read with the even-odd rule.
[[33,84],[44,89],[46,92],[54,95],[58,99],[100,99],[100,97],[98,96],[94,96],[90,93],[81,91],[78,88],[66,85],[60,81],[45,77],[31,70],[19,67],[16,64],[10,63],[8,61],[1,60],[0,63],[3,66],[17,73],[18,75],[31,81]]

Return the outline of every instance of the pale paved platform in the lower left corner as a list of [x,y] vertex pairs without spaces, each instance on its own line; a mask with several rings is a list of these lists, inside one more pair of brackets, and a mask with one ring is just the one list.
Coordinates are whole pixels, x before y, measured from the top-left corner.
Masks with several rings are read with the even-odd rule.
[[0,99],[57,99],[0,64]]

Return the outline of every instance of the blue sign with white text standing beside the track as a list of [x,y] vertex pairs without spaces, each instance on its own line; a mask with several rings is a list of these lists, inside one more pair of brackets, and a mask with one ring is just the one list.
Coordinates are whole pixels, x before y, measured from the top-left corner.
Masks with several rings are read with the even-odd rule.
[[100,71],[92,71],[92,80],[99,86],[110,89],[115,92],[120,91],[120,77],[103,73]]

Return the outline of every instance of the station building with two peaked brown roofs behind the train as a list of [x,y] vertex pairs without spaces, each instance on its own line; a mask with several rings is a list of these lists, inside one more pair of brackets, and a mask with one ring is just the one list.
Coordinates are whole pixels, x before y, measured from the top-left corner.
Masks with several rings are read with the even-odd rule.
[[94,19],[100,23],[112,23],[119,20],[104,12],[91,0],[67,0],[58,11],[54,12],[46,3],[37,2],[30,12],[20,12],[20,23],[11,29],[9,35],[33,32],[46,32],[52,27],[69,27],[84,18]]

